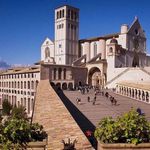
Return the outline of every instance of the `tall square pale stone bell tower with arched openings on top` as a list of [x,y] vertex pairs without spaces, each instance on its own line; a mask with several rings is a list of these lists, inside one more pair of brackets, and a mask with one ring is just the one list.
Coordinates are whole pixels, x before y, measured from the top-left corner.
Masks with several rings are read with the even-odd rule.
[[71,65],[78,58],[79,9],[62,6],[55,9],[55,61]]

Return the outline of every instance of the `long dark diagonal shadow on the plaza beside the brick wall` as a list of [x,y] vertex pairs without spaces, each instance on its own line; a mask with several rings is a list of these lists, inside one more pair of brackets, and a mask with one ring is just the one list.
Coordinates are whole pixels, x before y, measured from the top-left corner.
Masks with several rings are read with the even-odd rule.
[[[55,89],[58,96],[61,98],[62,102],[77,122],[78,126],[81,128],[85,136],[91,142],[92,146],[97,150],[97,140],[95,139],[93,133],[95,131],[95,126],[92,124],[90,120],[86,118],[86,116],[65,96],[61,89]],[[92,136],[89,137],[86,135],[86,131],[92,131]]]

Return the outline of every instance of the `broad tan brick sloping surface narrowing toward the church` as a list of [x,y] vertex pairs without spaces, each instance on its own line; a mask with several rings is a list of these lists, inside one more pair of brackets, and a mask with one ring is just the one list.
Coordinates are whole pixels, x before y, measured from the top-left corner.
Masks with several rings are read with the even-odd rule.
[[48,133],[48,150],[63,149],[62,140],[77,140],[77,150],[91,150],[92,146],[66,109],[49,80],[41,80],[37,87],[33,122],[43,125]]

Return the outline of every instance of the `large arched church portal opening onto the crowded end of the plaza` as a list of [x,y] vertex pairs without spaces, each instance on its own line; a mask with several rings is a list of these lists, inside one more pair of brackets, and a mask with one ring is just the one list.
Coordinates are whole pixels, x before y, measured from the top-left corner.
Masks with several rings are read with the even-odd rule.
[[88,74],[88,84],[96,87],[102,85],[102,76],[99,68],[93,67],[90,69]]

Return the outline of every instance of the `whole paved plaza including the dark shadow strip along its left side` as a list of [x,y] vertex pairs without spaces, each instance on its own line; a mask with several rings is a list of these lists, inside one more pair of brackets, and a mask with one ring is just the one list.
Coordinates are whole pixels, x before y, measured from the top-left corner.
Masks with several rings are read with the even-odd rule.
[[[142,112],[145,113],[146,118],[150,120],[150,104],[123,97],[110,90],[105,90],[104,92],[108,92],[113,96],[117,100],[117,105],[112,105],[109,98],[106,98],[101,94],[97,95],[96,103],[93,105],[95,96],[93,89],[85,94],[81,94],[80,91],[58,91],[58,95],[62,102],[85,135],[87,130],[94,132],[98,122],[102,118],[108,116],[115,118],[128,112],[132,107],[135,109],[141,108]],[[90,102],[87,100],[88,96],[90,97]],[[77,104],[77,98],[81,99],[80,104]],[[93,134],[92,138],[93,142],[91,144],[97,149],[97,141]]]

